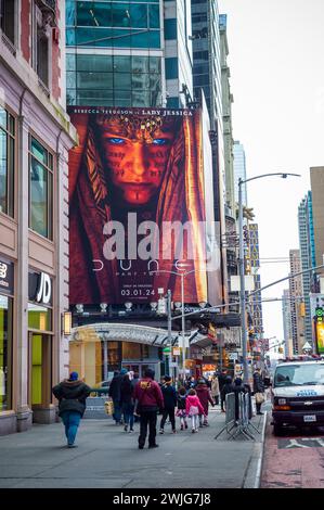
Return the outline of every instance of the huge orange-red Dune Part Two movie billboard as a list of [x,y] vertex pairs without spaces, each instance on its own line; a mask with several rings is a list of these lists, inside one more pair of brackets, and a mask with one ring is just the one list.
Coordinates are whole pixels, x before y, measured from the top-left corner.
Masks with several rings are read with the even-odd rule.
[[210,302],[206,271],[219,271],[219,253],[202,111],[68,113],[79,135],[69,154],[70,304],[155,302],[167,290],[181,302],[180,273],[185,303]]

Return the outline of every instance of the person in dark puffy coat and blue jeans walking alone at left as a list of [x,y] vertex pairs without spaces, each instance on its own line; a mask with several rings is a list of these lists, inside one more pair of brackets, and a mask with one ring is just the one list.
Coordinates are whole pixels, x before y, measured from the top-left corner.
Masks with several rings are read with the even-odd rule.
[[91,388],[79,380],[78,372],[72,372],[69,379],[62,381],[52,388],[52,393],[59,400],[59,416],[65,426],[67,446],[73,448],[80,420],[86,410],[86,398]]

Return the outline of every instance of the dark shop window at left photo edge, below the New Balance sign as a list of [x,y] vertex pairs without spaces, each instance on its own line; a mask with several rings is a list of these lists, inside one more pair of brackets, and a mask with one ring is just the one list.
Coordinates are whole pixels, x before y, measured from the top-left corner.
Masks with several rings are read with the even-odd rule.
[[0,295],[0,412],[11,409],[13,299]]

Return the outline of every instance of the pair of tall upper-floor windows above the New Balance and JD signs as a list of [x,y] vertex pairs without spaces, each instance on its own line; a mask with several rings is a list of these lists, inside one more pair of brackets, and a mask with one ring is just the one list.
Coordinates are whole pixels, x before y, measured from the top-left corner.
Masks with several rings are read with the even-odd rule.
[[[0,107],[0,212],[14,216],[15,118]],[[29,137],[29,228],[53,239],[53,155]]]

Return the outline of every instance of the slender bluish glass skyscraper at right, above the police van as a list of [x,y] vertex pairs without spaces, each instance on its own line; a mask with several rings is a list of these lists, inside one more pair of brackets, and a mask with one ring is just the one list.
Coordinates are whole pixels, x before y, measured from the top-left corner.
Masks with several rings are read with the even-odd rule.
[[[298,207],[298,229],[299,247],[301,258],[301,269],[304,271],[315,266],[315,246],[314,246],[314,227],[312,214],[312,193],[311,191],[302,199]],[[310,306],[310,292],[314,292],[313,275],[304,272],[302,275],[302,290],[304,301],[304,337],[312,345],[312,318]]]

